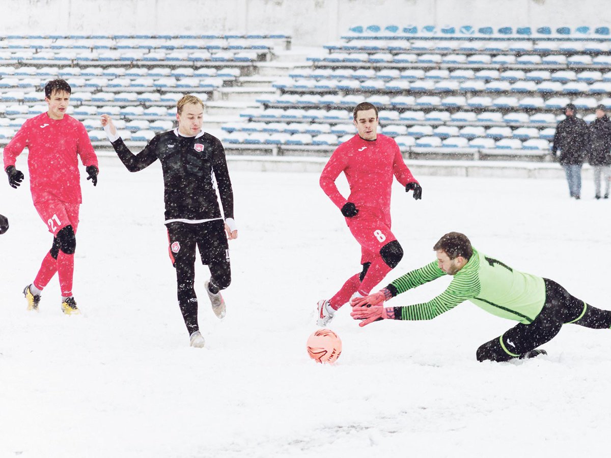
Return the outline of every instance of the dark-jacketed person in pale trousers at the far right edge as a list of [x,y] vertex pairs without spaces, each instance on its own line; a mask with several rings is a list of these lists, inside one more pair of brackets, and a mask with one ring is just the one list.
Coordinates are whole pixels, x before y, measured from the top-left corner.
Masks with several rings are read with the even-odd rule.
[[606,114],[606,107],[596,107],[596,119],[590,124],[590,155],[588,160],[594,167],[594,191],[597,199],[601,198],[601,175],[605,182],[604,198],[609,198],[609,180],[611,180],[611,123]]

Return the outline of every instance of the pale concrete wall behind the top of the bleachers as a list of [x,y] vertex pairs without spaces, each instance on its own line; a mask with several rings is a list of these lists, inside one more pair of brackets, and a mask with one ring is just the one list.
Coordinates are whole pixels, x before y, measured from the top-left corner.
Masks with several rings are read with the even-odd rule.
[[296,45],[367,24],[610,26],[608,0],[0,0],[0,34],[285,32]]

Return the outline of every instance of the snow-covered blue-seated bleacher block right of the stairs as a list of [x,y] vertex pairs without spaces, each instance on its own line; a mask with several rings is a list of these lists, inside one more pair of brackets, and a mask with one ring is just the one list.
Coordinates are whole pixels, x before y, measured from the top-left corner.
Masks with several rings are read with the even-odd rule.
[[351,109],[368,101],[381,132],[410,153],[541,159],[566,104],[588,122],[598,104],[611,108],[607,27],[360,26],[342,38],[224,125],[224,140],[337,145],[354,134]]

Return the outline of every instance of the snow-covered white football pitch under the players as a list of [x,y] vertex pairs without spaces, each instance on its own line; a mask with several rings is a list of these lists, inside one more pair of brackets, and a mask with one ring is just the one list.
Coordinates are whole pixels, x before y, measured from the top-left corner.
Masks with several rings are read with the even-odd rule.
[[[56,278],[40,312],[26,312],[21,289],[51,236],[27,184],[1,178],[11,227],[0,236],[0,457],[608,456],[611,332],[567,325],[547,357],[478,363],[475,349],[513,322],[463,304],[360,329],[345,308],[331,326],[342,357],[317,365],[305,351],[313,308],[359,269],[357,244],[318,175],[232,178],[240,237],[224,321],[197,271],[206,349],[188,346],[178,310],[157,165],[130,175],[104,159],[96,188],[83,178],[80,318],[62,315]],[[393,195],[406,256],[389,280],[458,230],[611,308],[611,202],[595,201],[590,182],[576,202],[560,180],[418,178],[422,201],[400,186]],[[428,299],[447,280],[390,304]]]

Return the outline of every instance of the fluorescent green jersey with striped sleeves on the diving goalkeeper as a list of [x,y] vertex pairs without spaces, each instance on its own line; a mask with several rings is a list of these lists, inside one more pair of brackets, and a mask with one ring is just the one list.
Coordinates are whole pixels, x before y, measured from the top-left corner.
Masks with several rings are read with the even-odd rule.
[[[390,283],[393,295],[446,275],[437,261],[408,272]],[[469,262],[452,278],[448,288],[423,304],[398,307],[396,319],[433,319],[465,300],[501,318],[529,324],[545,302],[543,278],[525,274],[473,249]],[[395,308],[395,311],[398,311]]]

